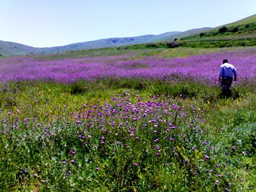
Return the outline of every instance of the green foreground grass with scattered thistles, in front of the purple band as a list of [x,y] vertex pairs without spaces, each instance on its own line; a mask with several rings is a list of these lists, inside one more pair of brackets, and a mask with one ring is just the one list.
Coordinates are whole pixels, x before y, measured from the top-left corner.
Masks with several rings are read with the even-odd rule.
[[[168,124],[164,121],[154,127],[148,122],[154,116],[147,122],[131,121],[135,136],[140,138],[137,140],[130,137],[129,129],[118,132],[116,126],[125,124],[125,120],[115,119],[115,129],[111,125],[113,115],[105,116],[106,122],[95,121],[93,114],[100,106],[107,108],[113,98],[119,100],[117,103],[123,100],[128,106],[148,100],[175,104],[180,108],[173,115],[165,116],[161,108],[152,109],[154,116],[163,115],[159,118],[179,129],[166,132]],[[191,81],[103,79],[73,84],[2,85],[0,188],[3,191],[252,191],[256,187],[255,99],[253,88],[237,86],[232,97],[221,99],[218,86]],[[89,109],[90,118],[86,118]],[[113,109],[124,112],[122,106],[115,104]],[[188,115],[179,116],[186,111]],[[100,124],[104,124],[106,131],[97,129]],[[148,124],[148,129],[144,124]],[[154,129],[157,133],[152,132]],[[85,138],[79,139],[79,134]],[[175,140],[169,141],[170,136]],[[106,138],[104,145],[99,143],[102,137]],[[156,138],[158,143],[153,142]],[[205,161],[205,155],[210,156],[209,161]],[[72,164],[72,159],[76,163]],[[216,180],[219,183],[215,185]]]

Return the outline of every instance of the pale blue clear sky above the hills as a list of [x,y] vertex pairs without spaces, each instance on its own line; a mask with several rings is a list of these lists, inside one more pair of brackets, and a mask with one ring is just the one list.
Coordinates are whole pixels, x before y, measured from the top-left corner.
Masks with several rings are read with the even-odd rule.
[[216,27],[256,13],[256,0],[0,0],[0,40],[52,47]]

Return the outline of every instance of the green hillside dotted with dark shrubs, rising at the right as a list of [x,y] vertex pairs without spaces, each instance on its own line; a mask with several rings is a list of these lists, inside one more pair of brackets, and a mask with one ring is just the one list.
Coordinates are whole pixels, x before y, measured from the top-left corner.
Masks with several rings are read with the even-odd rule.
[[117,47],[116,49],[157,49],[157,48],[221,48],[248,47],[256,45],[256,16],[252,15],[232,24],[209,29],[196,35],[176,38],[171,42],[157,42]]

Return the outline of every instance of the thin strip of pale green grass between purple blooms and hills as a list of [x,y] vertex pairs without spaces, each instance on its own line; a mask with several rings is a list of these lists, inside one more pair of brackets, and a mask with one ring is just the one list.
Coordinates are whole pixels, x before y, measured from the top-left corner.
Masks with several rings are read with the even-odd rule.
[[[197,54],[209,54],[214,52],[223,51],[234,51],[246,49],[246,47],[228,47],[225,41],[211,42],[211,41],[199,41],[199,42],[188,42],[184,43],[180,47],[172,49],[168,48],[155,48],[155,49],[122,49],[119,48],[108,48],[108,49],[94,49],[94,50],[83,50],[74,52],[63,52],[59,54],[47,54],[47,55],[36,55],[31,56],[33,60],[38,61],[49,61],[49,60],[62,60],[65,58],[84,58],[84,57],[104,57],[104,56],[127,56],[129,60],[143,58],[145,56],[156,56],[163,58],[177,58],[177,57],[188,57]],[[243,41],[242,41],[243,42]],[[229,43],[228,43],[229,44]],[[228,45],[227,44],[227,45]],[[216,47],[214,47],[216,45]],[[203,48],[207,47],[207,49]],[[120,50],[121,49],[121,50]]]

